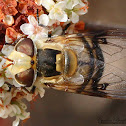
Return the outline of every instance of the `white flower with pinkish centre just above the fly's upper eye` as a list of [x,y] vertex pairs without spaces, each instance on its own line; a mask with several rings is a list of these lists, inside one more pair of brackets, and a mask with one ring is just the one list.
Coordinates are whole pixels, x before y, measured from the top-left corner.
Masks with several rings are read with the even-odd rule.
[[37,38],[48,37],[48,30],[38,25],[34,16],[28,16],[29,23],[22,24],[20,26],[21,31],[31,37],[32,35]]

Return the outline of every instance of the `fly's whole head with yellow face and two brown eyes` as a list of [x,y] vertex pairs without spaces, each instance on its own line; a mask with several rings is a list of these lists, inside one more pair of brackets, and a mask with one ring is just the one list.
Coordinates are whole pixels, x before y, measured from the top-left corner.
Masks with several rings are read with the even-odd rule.
[[[36,47],[30,38],[21,38],[6,61],[15,81],[30,87],[36,80]],[[11,64],[11,65],[9,65]]]

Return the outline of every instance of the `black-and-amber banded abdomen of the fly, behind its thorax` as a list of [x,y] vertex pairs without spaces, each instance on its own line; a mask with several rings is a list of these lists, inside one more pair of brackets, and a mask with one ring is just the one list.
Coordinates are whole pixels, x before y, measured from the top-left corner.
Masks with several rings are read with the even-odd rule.
[[67,77],[67,81],[76,85],[77,93],[82,93],[85,89],[97,90],[98,82],[104,72],[104,56],[98,41],[78,35],[69,38],[69,42],[70,49],[77,57],[77,68],[70,78]]

